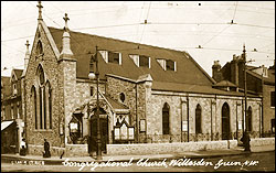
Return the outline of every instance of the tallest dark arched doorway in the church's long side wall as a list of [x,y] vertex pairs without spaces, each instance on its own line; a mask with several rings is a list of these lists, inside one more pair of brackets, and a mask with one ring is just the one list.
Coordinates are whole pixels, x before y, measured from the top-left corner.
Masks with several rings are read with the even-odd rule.
[[230,139],[230,107],[227,102],[222,106],[222,140]]

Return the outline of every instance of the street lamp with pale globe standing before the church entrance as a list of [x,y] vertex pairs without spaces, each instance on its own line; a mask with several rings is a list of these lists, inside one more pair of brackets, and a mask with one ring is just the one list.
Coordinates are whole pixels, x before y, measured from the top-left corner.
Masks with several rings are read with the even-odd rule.
[[[92,55],[91,63],[89,63],[89,74],[88,78],[95,79],[97,82],[97,109],[96,109],[96,117],[97,117],[97,160],[102,160],[102,141],[100,141],[100,128],[99,128],[99,101],[98,101],[98,83],[99,83],[99,72],[98,72],[98,57],[97,57],[97,46],[96,46],[96,54]],[[96,63],[96,71],[93,72],[93,64]]]

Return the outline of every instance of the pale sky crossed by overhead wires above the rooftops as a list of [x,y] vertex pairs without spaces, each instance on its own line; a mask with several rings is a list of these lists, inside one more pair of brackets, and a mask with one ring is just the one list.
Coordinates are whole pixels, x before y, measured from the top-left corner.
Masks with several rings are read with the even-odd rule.
[[[38,1],[1,1],[1,76],[23,69],[38,26]],[[248,65],[275,60],[275,1],[42,1],[47,26],[188,52],[212,76],[245,44]],[[232,22],[233,21],[233,22]],[[232,22],[232,24],[231,24]],[[146,24],[145,24],[146,23]],[[199,48],[201,47],[201,48]],[[31,50],[31,48],[30,48]]]

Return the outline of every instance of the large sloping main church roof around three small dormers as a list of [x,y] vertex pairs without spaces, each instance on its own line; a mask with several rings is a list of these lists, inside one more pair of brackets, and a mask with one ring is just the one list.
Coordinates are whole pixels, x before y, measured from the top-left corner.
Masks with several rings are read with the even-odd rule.
[[[49,28],[54,42],[62,51],[63,30]],[[106,50],[121,53],[121,65],[106,63],[102,55],[99,58],[99,77],[105,78],[105,74],[114,74],[130,79],[138,79],[139,76],[150,74],[153,80],[164,83],[182,83],[194,85],[212,86],[214,80],[189,56],[185,52],[161,48],[137,43],[108,39],[79,32],[70,32],[71,50],[76,58],[76,76],[77,78],[88,78],[89,61],[92,54],[95,53],[96,45],[98,50]],[[91,54],[88,54],[91,52]],[[129,54],[147,55],[151,57],[151,68],[137,67]],[[156,61],[157,58],[167,58],[177,62],[177,72],[166,72]]]

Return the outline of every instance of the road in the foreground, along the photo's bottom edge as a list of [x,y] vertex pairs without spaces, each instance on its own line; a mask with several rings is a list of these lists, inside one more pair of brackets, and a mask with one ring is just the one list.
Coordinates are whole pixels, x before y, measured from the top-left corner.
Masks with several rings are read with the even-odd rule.
[[[109,166],[96,167],[96,172],[214,172],[214,171],[275,171],[275,151],[232,155],[211,159],[179,158],[174,160],[128,162],[123,164],[110,162]],[[34,163],[33,163],[34,164]],[[113,166],[110,166],[114,164]],[[119,164],[118,166],[116,164]],[[197,165],[194,165],[197,164]],[[107,165],[107,164],[105,164]],[[95,166],[95,165],[94,165]],[[21,162],[2,163],[1,172],[93,172],[88,165],[25,165]]]

